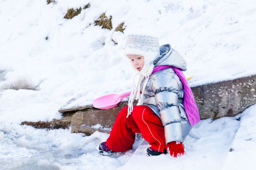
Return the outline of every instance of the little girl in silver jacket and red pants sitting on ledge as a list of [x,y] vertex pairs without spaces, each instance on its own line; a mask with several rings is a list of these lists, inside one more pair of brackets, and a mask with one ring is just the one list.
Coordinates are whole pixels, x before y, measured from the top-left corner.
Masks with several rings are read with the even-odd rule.
[[[159,47],[156,36],[130,34],[124,54],[140,75],[128,106],[117,115],[106,142],[98,153],[112,155],[132,148],[135,133],[141,133],[151,147],[147,154],[185,154],[182,142],[200,121],[191,88],[181,71],[187,70],[182,56],[169,44]],[[133,106],[134,98],[139,99]]]

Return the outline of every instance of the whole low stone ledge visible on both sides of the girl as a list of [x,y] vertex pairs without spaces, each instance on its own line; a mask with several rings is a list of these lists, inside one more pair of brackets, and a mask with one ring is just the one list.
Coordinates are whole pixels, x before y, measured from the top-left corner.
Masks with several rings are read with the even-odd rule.
[[[235,116],[256,103],[256,75],[204,84],[191,89],[201,119]],[[72,100],[74,99],[69,100],[68,103]],[[133,105],[136,105],[137,102],[135,100]],[[59,110],[64,115],[61,120],[22,122],[22,124],[47,129],[65,129],[71,125],[72,133],[85,133],[87,135],[95,131],[109,133],[109,130],[104,130],[104,128],[113,126],[118,112],[127,104],[128,101],[120,102],[117,107],[110,109],[98,109],[94,108],[93,105],[66,108],[65,110]],[[103,129],[95,129],[94,126],[97,124],[100,124]]]

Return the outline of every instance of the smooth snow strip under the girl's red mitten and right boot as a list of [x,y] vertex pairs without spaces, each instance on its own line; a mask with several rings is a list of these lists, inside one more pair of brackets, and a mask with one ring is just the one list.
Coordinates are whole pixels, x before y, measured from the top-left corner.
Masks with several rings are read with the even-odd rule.
[[[193,127],[200,135],[200,139],[188,136],[184,141],[186,154],[180,158],[173,158],[169,155],[158,157],[147,157],[146,150],[150,145],[144,142],[139,146],[132,158],[120,169],[221,169],[225,157],[230,150],[231,142],[234,139],[240,122],[234,118],[221,118],[215,121],[211,119],[201,120]],[[178,159],[178,160],[177,160]],[[146,160],[146,161],[145,161]],[[157,162],[157,163],[156,163]]]

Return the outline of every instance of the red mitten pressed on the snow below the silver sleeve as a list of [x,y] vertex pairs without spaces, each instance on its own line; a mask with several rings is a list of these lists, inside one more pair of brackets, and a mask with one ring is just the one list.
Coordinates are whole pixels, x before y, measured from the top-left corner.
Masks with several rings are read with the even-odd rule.
[[173,157],[177,157],[177,154],[178,156],[185,155],[182,142],[178,142],[178,141],[169,142],[167,143],[167,145],[165,145],[165,148],[167,152],[170,153],[170,155]]

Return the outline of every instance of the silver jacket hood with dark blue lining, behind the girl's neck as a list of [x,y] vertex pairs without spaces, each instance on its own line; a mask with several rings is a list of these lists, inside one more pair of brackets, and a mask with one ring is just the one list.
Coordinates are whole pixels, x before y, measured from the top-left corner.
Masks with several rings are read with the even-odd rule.
[[167,65],[179,68],[181,71],[187,70],[185,59],[170,44],[162,45],[159,50],[160,56],[154,60],[155,67]]

